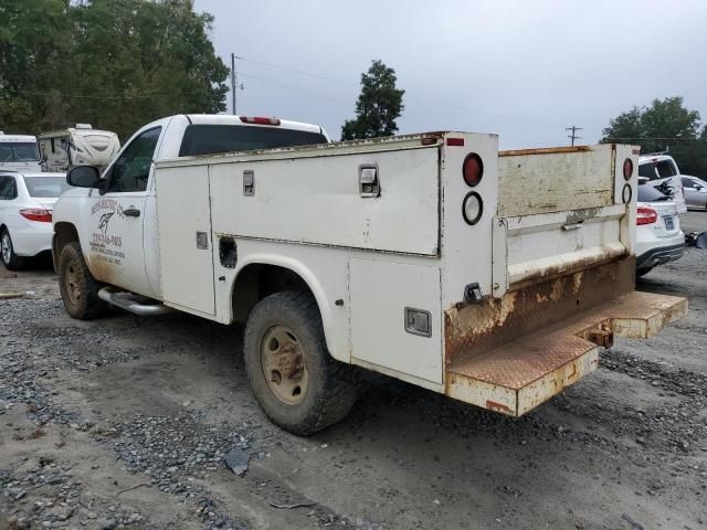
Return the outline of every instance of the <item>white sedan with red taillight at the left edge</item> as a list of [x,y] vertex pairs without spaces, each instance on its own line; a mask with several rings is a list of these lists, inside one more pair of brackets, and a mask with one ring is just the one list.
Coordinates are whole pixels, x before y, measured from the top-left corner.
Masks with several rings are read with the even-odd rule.
[[0,258],[10,271],[52,250],[52,210],[71,188],[65,173],[0,171]]

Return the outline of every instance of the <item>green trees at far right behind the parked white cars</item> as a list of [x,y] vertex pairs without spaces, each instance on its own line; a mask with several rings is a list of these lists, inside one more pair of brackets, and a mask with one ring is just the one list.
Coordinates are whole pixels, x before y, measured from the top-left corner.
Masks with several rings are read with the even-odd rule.
[[602,142],[633,144],[641,152],[669,151],[680,172],[707,177],[707,126],[679,96],[654,99],[650,107],[620,114],[603,130]]

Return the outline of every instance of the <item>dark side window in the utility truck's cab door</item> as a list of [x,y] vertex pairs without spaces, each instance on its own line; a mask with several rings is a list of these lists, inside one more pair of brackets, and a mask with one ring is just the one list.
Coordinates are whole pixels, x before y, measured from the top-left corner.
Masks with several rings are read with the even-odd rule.
[[145,191],[161,127],[146,130],[115,161],[107,191]]

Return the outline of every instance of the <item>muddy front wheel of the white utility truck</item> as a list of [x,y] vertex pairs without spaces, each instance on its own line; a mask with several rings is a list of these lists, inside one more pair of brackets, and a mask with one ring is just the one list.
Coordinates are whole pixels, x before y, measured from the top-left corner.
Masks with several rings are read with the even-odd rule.
[[88,320],[106,312],[108,305],[98,297],[101,284],[88,271],[77,242],[68,243],[59,255],[59,288],[66,312]]

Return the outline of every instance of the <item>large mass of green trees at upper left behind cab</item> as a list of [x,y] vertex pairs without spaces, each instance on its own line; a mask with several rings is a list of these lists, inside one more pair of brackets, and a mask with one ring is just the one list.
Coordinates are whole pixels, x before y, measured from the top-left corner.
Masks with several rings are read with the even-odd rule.
[[2,0],[0,129],[91,123],[125,140],[163,116],[224,110],[212,21],[192,0]]

